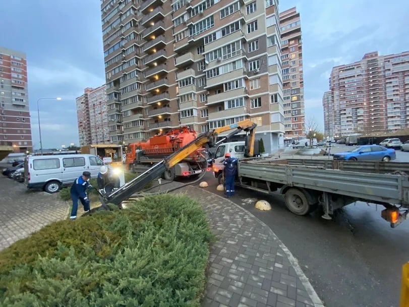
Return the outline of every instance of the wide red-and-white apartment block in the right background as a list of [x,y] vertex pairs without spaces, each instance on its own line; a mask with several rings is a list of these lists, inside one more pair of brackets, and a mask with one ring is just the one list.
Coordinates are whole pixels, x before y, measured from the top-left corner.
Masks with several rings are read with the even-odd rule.
[[409,52],[373,52],[359,62],[334,67],[329,87],[324,122],[334,135],[387,133],[409,125]]

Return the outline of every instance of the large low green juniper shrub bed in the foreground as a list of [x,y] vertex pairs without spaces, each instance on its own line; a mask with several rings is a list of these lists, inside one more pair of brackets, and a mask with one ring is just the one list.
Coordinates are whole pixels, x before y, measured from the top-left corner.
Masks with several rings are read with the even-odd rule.
[[199,306],[211,239],[186,195],[57,222],[0,252],[0,305]]

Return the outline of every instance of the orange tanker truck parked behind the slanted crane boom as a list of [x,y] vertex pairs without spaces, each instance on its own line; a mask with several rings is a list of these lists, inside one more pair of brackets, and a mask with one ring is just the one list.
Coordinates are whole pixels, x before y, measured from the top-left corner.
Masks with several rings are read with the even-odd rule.
[[[186,144],[197,138],[196,131],[186,126],[168,131],[166,134],[157,134],[146,142],[128,145],[126,167],[134,172],[144,172],[153,164],[173,154]],[[192,155],[166,170],[162,178],[173,180],[177,176],[197,177],[206,171],[208,153],[204,148],[198,149]]]

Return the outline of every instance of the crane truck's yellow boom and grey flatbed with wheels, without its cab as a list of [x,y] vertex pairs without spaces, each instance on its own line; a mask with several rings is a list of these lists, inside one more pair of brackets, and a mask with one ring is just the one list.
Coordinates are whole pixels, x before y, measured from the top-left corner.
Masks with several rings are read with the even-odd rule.
[[[109,195],[101,202],[120,204],[142,190],[148,182],[204,146],[213,147],[229,137],[245,131],[247,134],[244,159],[238,163],[238,185],[263,193],[283,194],[286,207],[296,215],[307,215],[319,206],[324,219],[331,219],[336,209],[356,201],[380,204],[385,209],[382,218],[396,227],[409,213],[409,180],[402,172],[405,163],[264,160],[250,158],[254,154],[256,124],[244,120],[200,134],[173,154],[162,159]],[[218,142],[218,134],[235,129]],[[222,146],[224,144],[220,144]],[[217,151],[217,150],[216,150]],[[216,174],[215,174],[216,175]]]

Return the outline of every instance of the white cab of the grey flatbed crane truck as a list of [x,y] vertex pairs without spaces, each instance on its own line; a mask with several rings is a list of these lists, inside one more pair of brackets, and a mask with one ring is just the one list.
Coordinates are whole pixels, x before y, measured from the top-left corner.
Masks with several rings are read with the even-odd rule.
[[243,159],[245,154],[246,145],[244,141],[239,142],[227,142],[220,144],[214,154],[213,160],[213,173],[214,177],[218,179],[219,184],[222,182],[223,170],[224,170],[224,155],[226,152],[230,152],[232,158]]

